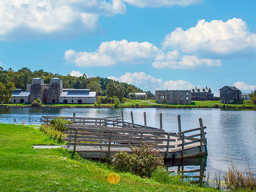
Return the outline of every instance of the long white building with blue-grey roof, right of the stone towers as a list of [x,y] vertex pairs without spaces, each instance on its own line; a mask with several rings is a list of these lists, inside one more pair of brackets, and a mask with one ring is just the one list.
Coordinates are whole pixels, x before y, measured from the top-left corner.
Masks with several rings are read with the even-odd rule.
[[93,104],[96,102],[96,92],[90,89],[63,89],[59,97],[59,103]]

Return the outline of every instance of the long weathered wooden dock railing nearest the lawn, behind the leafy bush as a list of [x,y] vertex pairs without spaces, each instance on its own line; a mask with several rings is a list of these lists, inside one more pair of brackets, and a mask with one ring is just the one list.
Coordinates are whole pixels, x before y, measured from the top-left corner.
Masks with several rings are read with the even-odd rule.
[[[166,148],[166,157],[169,155],[169,148],[175,148],[170,134],[162,130],[147,128],[117,128],[92,125],[65,125],[69,131],[64,131],[68,141],[66,145],[73,146],[76,151],[77,146],[105,148],[110,157],[111,149],[126,150],[130,147],[140,146],[142,142],[157,144],[157,148]],[[172,133],[175,134],[175,133]]]

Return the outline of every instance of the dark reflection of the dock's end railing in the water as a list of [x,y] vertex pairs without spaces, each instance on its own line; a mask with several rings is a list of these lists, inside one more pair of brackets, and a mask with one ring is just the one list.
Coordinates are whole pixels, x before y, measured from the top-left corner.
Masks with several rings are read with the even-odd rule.
[[183,182],[204,183],[207,155],[165,162],[166,170],[180,175]]

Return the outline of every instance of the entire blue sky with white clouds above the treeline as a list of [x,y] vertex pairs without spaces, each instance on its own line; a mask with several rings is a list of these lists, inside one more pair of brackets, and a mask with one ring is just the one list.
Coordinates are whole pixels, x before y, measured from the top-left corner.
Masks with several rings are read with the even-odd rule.
[[255,0],[0,1],[0,66],[143,90],[256,89]]

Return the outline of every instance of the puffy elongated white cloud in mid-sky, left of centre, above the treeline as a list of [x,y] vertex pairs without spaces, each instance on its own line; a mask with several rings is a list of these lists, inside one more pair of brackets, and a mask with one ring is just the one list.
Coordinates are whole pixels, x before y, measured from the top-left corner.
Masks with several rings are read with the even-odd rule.
[[79,67],[112,66],[115,64],[144,64],[156,56],[159,49],[148,42],[122,41],[102,42],[95,52],[65,52],[67,63]]

